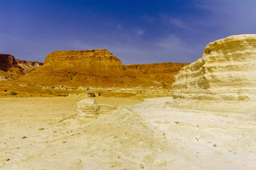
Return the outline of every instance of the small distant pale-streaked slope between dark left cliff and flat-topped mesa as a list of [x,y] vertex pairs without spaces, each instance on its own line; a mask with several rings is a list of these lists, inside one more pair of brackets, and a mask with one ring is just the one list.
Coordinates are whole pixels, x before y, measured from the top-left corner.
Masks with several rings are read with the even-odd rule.
[[35,62],[35,61],[25,61],[16,59],[18,66],[22,69],[24,74],[28,74],[38,67],[43,65],[43,62]]

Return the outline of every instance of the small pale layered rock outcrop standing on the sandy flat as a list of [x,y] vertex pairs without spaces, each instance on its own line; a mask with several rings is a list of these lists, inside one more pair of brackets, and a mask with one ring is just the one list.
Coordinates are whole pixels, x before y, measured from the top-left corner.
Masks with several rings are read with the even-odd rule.
[[98,104],[92,98],[84,98],[77,103],[77,114],[80,120],[95,120],[102,115],[110,114],[117,106]]

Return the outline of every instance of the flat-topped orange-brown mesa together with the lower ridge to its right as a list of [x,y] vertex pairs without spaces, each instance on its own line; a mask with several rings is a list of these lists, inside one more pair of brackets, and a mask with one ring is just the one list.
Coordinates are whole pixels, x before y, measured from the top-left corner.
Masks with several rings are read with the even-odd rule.
[[42,67],[22,79],[42,85],[68,86],[171,86],[173,76],[186,64],[124,66],[107,50],[55,51]]

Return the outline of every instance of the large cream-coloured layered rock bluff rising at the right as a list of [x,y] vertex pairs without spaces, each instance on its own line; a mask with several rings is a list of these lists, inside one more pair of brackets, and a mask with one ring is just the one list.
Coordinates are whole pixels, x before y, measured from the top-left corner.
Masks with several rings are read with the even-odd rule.
[[233,35],[206,46],[203,57],[174,77],[178,108],[254,113],[256,35]]

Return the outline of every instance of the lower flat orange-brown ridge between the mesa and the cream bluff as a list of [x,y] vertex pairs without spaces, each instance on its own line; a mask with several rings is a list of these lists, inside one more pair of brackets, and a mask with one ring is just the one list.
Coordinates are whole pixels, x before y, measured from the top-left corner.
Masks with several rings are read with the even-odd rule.
[[146,75],[150,79],[161,82],[165,87],[171,87],[174,83],[174,76],[188,63],[154,63],[154,64],[129,64],[124,65],[126,72],[138,72]]

